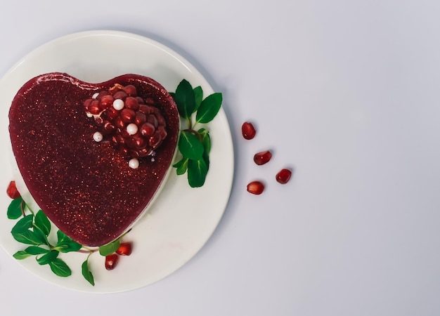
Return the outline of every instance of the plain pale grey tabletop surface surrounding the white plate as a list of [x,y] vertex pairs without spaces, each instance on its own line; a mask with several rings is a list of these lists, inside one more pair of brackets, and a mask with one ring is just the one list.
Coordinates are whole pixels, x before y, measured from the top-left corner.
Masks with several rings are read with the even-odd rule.
[[[224,93],[236,163],[218,229],[174,274],[82,294],[0,251],[1,315],[440,314],[438,1],[8,1],[1,12],[0,74],[90,29],[173,48]],[[273,160],[255,166],[266,148]],[[285,186],[273,180],[283,166],[295,169]],[[264,195],[245,191],[254,178]]]

